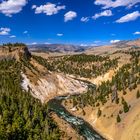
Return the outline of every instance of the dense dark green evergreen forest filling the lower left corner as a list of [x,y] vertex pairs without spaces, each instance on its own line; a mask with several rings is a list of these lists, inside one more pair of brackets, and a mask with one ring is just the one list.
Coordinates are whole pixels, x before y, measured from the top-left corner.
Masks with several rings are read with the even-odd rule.
[[0,61],[0,140],[58,140],[60,130],[47,105],[21,88],[22,64]]

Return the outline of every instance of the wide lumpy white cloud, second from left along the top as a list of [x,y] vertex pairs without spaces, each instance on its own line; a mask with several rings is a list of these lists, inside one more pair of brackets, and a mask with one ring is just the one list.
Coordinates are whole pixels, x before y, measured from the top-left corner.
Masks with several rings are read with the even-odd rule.
[[32,6],[32,9],[35,9],[35,14],[44,13],[47,16],[57,14],[60,10],[64,10],[65,8],[65,5],[57,6],[53,3],[47,3],[46,5],[40,5],[39,7],[37,7],[36,5]]

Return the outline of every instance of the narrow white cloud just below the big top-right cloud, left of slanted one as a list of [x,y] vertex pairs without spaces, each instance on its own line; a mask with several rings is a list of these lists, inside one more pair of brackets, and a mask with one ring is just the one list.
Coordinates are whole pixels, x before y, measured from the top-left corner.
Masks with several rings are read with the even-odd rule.
[[111,10],[105,10],[105,11],[103,11],[101,13],[95,14],[92,18],[93,19],[97,19],[99,17],[109,17],[109,16],[112,16],[112,15],[113,14],[112,14],[112,11]]

